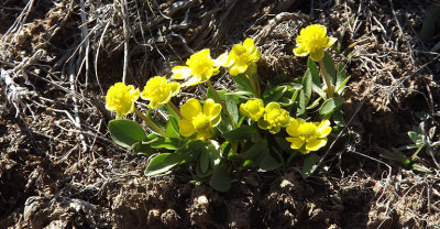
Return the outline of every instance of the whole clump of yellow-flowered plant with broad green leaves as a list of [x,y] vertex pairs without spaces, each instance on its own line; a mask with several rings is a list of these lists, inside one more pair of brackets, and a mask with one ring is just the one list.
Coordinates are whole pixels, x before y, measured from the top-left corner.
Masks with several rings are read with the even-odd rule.
[[[261,53],[252,39],[217,58],[208,48],[193,54],[186,65],[173,67],[170,78],[176,81],[155,76],[143,91],[117,83],[106,97],[107,108],[117,112],[117,119],[109,122],[110,135],[117,144],[152,156],[147,176],[185,164],[195,170],[195,181],[226,192],[231,172],[283,172],[298,157],[307,178],[317,168],[319,151],[332,138],[331,121],[333,127],[344,124],[341,95],[349,77],[343,65],[334,66],[324,51],[334,42],[322,25],[304,29],[294,53],[309,55],[306,74],[293,81],[270,81],[274,86],[264,91],[257,73]],[[212,87],[210,78],[221,68],[235,81],[235,90]],[[172,102],[180,88],[198,84],[207,85],[204,100],[190,98],[180,108]],[[148,101],[146,113],[135,108],[139,97]],[[151,116],[151,110],[163,108],[168,113],[166,122]],[[122,119],[132,112],[150,134],[135,121]]]

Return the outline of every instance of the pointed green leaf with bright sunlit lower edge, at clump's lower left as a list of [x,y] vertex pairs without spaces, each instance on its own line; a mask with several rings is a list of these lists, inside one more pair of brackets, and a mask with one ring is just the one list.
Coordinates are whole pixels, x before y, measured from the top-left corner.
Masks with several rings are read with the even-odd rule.
[[169,171],[172,167],[178,165],[184,161],[182,154],[176,153],[161,153],[154,156],[145,170],[146,176],[154,176]]

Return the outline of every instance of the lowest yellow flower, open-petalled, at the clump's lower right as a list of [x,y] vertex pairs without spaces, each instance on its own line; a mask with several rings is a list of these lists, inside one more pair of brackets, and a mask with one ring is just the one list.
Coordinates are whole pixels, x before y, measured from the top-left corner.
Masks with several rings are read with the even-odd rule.
[[292,143],[290,148],[306,154],[317,151],[327,144],[327,135],[331,132],[330,121],[306,122],[304,119],[293,119],[286,128],[290,135],[286,138]]

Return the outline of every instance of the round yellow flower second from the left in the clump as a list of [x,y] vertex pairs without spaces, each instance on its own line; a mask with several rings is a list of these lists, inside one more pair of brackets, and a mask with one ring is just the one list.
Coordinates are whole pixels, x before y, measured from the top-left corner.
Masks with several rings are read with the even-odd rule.
[[163,76],[151,78],[141,94],[141,98],[148,100],[148,107],[156,109],[169,101],[173,96],[176,96],[180,89],[177,83],[167,83]]

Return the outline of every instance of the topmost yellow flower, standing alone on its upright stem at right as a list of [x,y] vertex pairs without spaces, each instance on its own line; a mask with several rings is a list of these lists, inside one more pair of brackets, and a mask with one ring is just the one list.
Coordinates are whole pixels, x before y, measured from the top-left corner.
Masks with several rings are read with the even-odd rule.
[[297,56],[307,56],[315,62],[321,61],[323,50],[334,44],[337,39],[327,36],[327,28],[320,24],[312,24],[302,29],[296,39],[296,47],[294,53]]

